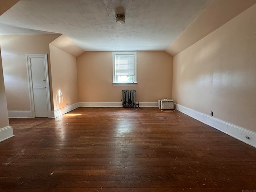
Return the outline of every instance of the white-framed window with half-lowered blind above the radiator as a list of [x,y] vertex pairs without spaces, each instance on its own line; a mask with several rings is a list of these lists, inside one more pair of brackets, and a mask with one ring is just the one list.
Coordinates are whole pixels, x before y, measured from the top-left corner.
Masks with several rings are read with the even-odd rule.
[[113,83],[137,83],[137,52],[113,52]]

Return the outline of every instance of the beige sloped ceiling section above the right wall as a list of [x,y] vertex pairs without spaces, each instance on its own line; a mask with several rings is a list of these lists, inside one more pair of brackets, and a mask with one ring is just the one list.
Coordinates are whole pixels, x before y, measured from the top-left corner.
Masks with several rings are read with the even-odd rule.
[[175,56],[254,4],[255,0],[213,0],[164,51]]

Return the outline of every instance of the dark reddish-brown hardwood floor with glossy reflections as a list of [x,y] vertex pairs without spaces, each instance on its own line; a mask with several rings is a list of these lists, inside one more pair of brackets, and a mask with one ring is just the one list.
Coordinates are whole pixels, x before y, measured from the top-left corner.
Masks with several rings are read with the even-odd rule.
[[256,190],[256,148],[179,111],[78,108],[10,125],[0,191]]

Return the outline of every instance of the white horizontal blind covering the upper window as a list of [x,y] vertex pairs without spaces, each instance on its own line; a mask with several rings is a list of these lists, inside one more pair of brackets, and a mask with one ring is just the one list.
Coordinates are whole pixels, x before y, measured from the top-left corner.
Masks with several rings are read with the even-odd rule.
[[134,75],[134,55],[116,55],[116,75]]

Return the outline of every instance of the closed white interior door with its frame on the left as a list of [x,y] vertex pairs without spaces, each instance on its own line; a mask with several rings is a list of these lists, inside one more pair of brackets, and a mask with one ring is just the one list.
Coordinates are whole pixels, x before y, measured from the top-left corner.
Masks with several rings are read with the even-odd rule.
[[27,54],[32,117],[50,117],[46,54]]

